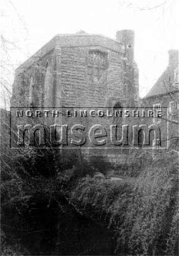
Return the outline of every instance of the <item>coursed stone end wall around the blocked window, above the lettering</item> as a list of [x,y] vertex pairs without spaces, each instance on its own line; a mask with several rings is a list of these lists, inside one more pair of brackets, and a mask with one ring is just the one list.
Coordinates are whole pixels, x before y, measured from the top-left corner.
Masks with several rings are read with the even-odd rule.
[[[90,52],[104,52],[107,56],[101,69],[100,60],[90,60]],[[113,108],[116,102],[120,102],[121,106],[130,106],[138,96],[133,72],[138,70],[128,66],[119,52],[109,52],[102,47],[61,48],[62,106]]]

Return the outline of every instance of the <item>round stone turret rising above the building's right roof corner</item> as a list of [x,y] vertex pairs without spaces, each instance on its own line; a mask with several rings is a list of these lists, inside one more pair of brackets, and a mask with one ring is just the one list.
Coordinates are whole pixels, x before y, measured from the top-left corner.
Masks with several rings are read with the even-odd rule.
[[130,29],[116,32],[116,40],[124,44],[125,55],[129,62],[134,60],[135,32]]

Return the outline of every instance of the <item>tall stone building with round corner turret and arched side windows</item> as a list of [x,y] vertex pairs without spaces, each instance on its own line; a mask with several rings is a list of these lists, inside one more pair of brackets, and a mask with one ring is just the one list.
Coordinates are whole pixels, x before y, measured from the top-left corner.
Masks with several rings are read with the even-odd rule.
[[[56,35],[16,69],[11,106],[60,108],[60,124],[65,123],[64,108],[137,107],[134,51],[132,30],[117,31],[116,39],[84,31]],[[119,162],[126,159],[119,148],[102,151],[98,147],[87,154],[107,155]]]

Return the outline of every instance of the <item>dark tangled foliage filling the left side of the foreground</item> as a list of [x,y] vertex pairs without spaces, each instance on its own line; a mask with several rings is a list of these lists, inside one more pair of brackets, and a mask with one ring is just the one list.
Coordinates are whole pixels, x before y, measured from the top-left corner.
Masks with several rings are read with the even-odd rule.
[[[36,240],[48,240],[47,233],[40,230],[51,230],[53,227],[56,236],[54,241],[57,240],[58,212],[61,215],[65,210],[62,205],[70,203],[64,193],[65,186],[93,172],[86,161],[83,160],[80,164],[78,158],[78,152],[65,151],[63,154],[59,150],[52,151],[48,148],[46,150],[27,148],[16,151],[3,162],[1,173],[3,255],[30,254],[24,247],[23,237],[31,233],[34,233],[34,236],[39,233]],[[53,241],[53,236],[50,239]]]

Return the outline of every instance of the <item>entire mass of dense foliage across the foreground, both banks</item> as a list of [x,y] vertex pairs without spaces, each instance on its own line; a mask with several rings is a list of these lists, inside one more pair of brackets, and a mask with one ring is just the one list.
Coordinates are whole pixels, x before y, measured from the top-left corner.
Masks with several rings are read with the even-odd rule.
[[[134,167],[131,177],[111,181],[94,176],[94,166],[79,159],[77,152],[62,156],[58,150],[27,150],[16,154],[2,172],[3,254],[30,254],[17,238],[28,230],[48,229],[48,225],[49,229],[54,226],[53,241],[58,241],[60,212],[68,209],[67,203],[81,216],[108,227],[113,234],[111,253],[177,255],[177,157],[162,154],[150,164],[144,162],[138,170]],[[98,163],[98,169],[103,165]]]

